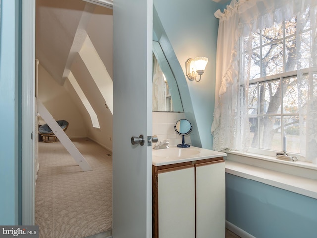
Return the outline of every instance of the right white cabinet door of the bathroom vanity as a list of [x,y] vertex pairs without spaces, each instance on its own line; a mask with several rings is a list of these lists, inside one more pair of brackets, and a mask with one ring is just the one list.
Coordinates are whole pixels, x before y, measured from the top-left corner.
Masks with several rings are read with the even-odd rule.
[[196,165],[196,238],[225,238],[225,165]]

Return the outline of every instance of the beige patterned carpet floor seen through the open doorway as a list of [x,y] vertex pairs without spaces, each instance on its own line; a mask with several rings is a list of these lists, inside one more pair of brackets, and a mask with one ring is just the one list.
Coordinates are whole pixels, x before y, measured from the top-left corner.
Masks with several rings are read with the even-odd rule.
[[60,142],[39,142],[40,238],[83,238],[112,229],[112,155],[89,139],[73,143],[92,171],[83,172]]

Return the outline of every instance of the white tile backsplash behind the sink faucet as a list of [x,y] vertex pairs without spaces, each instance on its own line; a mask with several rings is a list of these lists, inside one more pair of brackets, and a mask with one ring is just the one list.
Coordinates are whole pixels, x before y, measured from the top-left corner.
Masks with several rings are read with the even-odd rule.
[[[180,119],[186,119],[184,113],[153,112],[152,134],[158,136],[158,140],[168,140],[170,145],[182,143],[182,136],[176,133],[174,126]],[[185,143],[191,144],[190,136],[185,136]]]

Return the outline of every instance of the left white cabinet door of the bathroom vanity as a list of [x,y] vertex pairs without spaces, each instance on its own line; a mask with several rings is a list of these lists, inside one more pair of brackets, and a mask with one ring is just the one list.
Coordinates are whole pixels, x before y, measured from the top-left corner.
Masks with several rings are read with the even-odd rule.
[[160,170],[159,238],[195,237],[194,166]]

